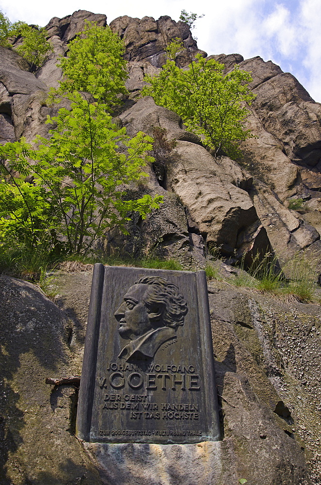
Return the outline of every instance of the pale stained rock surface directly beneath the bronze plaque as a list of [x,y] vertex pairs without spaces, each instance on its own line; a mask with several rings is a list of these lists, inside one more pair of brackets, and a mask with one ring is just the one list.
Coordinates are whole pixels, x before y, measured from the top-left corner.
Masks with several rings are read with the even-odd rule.
[[[84,443],[99,469],[103,484],[119,485],[216,485],[236,483],[235,467],[222,469],[220,442],[197,445]],[[108,464],[108,465],[106,465]]]

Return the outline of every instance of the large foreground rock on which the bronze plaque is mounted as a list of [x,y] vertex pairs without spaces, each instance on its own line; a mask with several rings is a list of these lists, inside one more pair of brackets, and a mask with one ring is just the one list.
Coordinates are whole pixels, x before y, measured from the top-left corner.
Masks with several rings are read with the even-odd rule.
[[[74,436],[91,272],[59,272],[59,307],[1,276],[4,485],[317,483],[320,307],[209,285],[221,441],[102,445]],[[306,463],[307,462],[307,463]]]

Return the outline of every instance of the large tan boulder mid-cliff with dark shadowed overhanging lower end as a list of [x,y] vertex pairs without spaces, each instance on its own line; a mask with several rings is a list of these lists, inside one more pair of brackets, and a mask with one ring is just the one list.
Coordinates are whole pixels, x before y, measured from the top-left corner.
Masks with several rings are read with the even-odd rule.
[[237,187],[205,148],[177,143],[177,161],[170,165],[167,186],[188,207],[207,243],[231,256],[241,229],[257,220],[249,194]]

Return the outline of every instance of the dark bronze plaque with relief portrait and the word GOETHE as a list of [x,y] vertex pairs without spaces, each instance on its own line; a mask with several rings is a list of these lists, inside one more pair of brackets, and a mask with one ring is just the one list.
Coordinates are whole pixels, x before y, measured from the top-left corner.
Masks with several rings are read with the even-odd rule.
[[77,436],[107,443],[219,439],[204,271],[95,264]]

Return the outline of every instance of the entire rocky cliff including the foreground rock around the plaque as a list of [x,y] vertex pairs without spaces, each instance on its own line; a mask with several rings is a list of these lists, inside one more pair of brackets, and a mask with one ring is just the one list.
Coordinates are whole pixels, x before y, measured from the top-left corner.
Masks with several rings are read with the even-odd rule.
[[[61,79],[56,60],[85,19],[106,25],[106,16],[86,11],[50,20],[54,52],[35,73],[14,50],[0,48],[0,143],[47,135],[45,120],[57,107],[45,100]],[[149,167],[143,186],[130,187],[137,194],[162,193],[164,204],[144,221],[134,217],[129,236],[106,235],[106,251],[174,256],[195,268],[204,265],[212,244],[226,258],[245,255],[251,261],[258,251],[273,249],[283,264],[302,250],[320,263],[321,105],[271,61],[210,56],[226,72],[235,64],[251,71],[257,95],[247,121],[256,136],[242,143],[243,157],[214,159],[175,113],[150,97],[138,98],[144,74],[159,71],[171,38],[179,37],[185,52],[207,55],[188,27],[168,16],[123,16],[111,28],[125,40],[129,74],[130,95],[117,122],[129,134],[165,128],[177,147],[161,167]],[[188,56],[178,62],[186,65]],[[297,198],[305,201],[300,212],[288,207]],[[44,382],[81,371],[90,274],[63,274],[58,281],[63,309],[28,283],[1,280],[3,484],[230,485],[239,478],[253,485],[317,483],[320,307],[289,307],[224,284],[210,288],[223,441],[85,451],[73,436],[75,388],[50,389]]]

